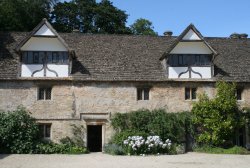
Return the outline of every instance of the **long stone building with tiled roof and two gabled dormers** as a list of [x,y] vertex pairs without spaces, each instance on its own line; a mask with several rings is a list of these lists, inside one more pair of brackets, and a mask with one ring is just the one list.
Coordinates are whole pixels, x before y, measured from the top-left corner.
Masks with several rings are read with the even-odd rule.
[[249,65],[249,39],[203,37],[192,24],[178,37],[94,35],[57,33],[44,19],[30,33],[0,33],[0,109],[24,106],[55,142],[83,125],[98,151],[114,113],[190,111],[198,93],[215,95],[217,80],[237,82],[249,107]]

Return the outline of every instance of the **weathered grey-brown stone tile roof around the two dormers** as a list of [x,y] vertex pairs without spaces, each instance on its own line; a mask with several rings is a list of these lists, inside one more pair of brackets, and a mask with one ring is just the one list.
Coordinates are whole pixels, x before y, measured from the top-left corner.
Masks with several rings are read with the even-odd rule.
[[[176,37],[59,34],[75,50],[71,80],[170,80],[160,58]],[[20,79],[19,56],[15,47],[27,35],[0,33],[0,79]],[[250,39],[211,37],[205,40],[218,52],[212,81],[250,82]]]

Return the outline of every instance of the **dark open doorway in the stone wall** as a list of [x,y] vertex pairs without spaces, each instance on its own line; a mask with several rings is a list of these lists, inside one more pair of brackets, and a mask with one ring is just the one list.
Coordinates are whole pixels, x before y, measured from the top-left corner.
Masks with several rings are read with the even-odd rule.
[[90,152],[102,151],[102,125],[88,125],[88,149]]

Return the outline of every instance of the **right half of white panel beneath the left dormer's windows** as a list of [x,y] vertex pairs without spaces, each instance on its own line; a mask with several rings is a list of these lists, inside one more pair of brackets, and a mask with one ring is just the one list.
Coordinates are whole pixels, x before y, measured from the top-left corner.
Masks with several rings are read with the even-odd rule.
[[[48,64],[48,68],[57,72],[58,77],[68,77],[69,76],[69,66],[68,65],[55,65]],[[55,73],[48,71],[46,69],[47,77],[56,77]]]

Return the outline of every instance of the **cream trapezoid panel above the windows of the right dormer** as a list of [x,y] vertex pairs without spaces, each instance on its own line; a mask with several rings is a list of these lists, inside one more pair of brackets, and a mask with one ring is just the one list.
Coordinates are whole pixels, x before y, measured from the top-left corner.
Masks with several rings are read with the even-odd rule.
[[204,42],[179,42],[171,54],[211,54]]

